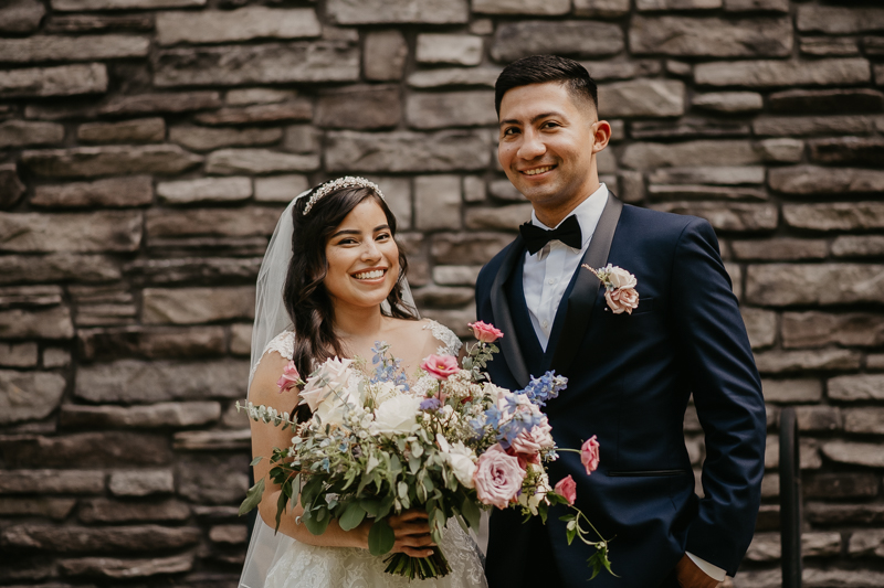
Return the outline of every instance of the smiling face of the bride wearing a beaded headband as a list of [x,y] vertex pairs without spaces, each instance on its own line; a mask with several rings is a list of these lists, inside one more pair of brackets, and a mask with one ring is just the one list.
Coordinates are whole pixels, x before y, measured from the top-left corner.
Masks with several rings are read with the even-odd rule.
[[335,228],[325,255],[324,284],[336,303],[380,304],[399,279],[399,247],[375,199],[360,202]]

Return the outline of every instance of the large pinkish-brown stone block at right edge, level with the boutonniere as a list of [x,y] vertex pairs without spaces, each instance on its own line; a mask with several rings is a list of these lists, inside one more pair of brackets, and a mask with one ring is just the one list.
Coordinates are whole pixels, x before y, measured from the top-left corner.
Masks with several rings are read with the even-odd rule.
[[[832,288],[838,284],[839,288]],[[768,264],[749,266],[746,296],[761,306],[880,302],[884,266]]]

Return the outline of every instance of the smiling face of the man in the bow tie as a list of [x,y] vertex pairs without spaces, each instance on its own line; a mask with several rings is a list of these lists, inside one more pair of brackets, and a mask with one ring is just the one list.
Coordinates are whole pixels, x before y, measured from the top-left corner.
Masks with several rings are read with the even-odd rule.
[[535,210],[567,207],[596,190],[596,111],[565,85],[549,82],[507,90],[499,120],[497,158]]

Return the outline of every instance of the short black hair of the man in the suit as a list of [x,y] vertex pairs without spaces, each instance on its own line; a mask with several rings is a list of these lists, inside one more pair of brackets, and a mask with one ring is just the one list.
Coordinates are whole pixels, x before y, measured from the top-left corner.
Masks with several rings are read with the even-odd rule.
[[514,61],[497,76],[497,83],[494,84],[494,107],[497,115],[501,114],[504,94],[508,90],[547,82],[564,84],[575,100],[588,101],[598,111],[599,90],[586,67],[568,57],[532,55]]

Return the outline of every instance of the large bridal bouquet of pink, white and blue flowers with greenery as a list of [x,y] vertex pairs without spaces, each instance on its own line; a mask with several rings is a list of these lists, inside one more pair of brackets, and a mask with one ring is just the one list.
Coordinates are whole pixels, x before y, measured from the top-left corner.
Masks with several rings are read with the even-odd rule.
[[[371,517],[368,547],[383,556],[394,544],[387,518],[407,509],[427,511],[439,545],[450,518],[464,531],[477,530],[483,506],[516,507],[546,521],[551,504],[566,504],[576,511],[562,517],[568,542],[578,536],[597,548],[589,560],[593,577],[602,567],[610,571],[607,542],[600,535],[587,538],[581,521],[591,523],[572,506],[575,481],[569,475],[550,487],[544,467],[557,458],[557,448],[540,408],[567,378],[548,372],[523,391],[495,386],[483,368],[503,333],[482,322],[471,327],[477,343],[467,348],[463,365],[453,356],[430,355],[411,386],[383,342],[372,349],[371,368],[364,360],[335,357],[304,382],[290,362],[277,386],[301,388],[301,403],[313,413],[302,424],[271,407],[236,404],[253,420],[294,432],[291,446],[274,449],[270,458],[270,478],[282,488],[277,528],[288,504],[298,500],[301,522],[315,535],[333,518],[349,531]],[[598,467],[596,438],[578,452],[589,474]],[[249,490],[240,514],[256,507],[263,492],[262,479]],[[450,571],[438,546],[425,558],[396,553],[385,563],[387,573],[412,579]]]

